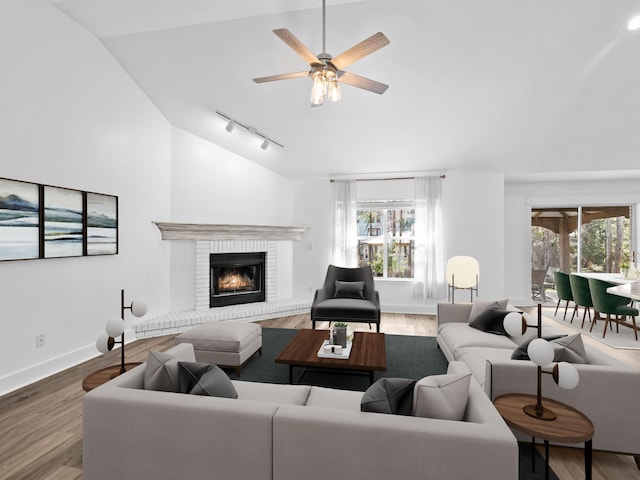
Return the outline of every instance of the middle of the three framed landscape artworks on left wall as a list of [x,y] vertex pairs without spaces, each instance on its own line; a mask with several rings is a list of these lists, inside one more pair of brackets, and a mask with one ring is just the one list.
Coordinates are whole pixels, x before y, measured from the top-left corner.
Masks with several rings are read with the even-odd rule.
[[80,257],[84,210],[79,190],[44,186],[44,257]]

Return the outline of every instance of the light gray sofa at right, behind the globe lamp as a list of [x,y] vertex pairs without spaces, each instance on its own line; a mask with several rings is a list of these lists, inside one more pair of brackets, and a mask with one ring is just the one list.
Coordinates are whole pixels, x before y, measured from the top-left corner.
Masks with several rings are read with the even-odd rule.
[[[469,367],[488,398],[504,393],[536,393],[536,366],[512,360],[518,343],[509,336],[495,335],[469,326],[472,304],[438,305],[437,341],[449,361]],[[537,320],[529,316],[531,324]],[[543,319],[543,336],[562,334]],[[535,329],[528,336],[537,335]],[[585,343],[586,364],[574,364],[580,382],[563,390],[543,375],[543,396],[564,402],[585,413],[593,422],[593,448],[625,454],[640,454],[640,371]],[[517,435],[518,438],[525,438]],[[583,445],[576,445],[582,447]]]

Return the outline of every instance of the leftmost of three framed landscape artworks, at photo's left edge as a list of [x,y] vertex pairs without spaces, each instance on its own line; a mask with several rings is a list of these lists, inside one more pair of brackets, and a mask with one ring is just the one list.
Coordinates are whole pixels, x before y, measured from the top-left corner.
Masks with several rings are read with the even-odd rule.
[[0,178],[0,260],[40,257],[40,185]]

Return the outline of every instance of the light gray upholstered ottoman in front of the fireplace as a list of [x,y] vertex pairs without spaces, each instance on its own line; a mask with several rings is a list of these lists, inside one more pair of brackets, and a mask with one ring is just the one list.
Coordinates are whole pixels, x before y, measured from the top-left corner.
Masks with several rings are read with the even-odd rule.
[[191,343],[198,362],[240,367],[256,352],[262,355],[262,327],[255,323],[207,322],[176,337],[176,343]]

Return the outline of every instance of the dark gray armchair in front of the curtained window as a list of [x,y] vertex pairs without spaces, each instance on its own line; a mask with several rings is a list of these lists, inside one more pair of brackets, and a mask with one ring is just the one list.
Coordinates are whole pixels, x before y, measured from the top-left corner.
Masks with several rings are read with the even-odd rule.
[[[338,294],[336,298],[336,281],[364,282],[362,298],[358,295],[346,296]],[[380,331],[380,295],[375,290],[373,273],[370,266],[359,268],[343,268],[329,265],[324,286],[316,290],[311,304],[311,323],[316,322],[359,322],[376,324]]]

